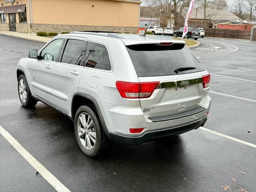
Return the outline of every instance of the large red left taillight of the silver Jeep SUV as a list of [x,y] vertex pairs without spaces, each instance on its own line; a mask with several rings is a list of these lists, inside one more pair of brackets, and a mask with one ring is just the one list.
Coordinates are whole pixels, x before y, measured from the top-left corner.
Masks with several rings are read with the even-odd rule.
[[116,88],[123,98],[148,98],[152,95],[158,85],[159,82],[116,82]]

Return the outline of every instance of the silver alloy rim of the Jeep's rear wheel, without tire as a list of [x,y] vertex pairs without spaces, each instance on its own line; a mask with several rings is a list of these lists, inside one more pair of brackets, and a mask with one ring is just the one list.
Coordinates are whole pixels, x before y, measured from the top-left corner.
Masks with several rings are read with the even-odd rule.
[[87,150],[92,150],[96,142],[96,130],[89,114],[84,112],[79,115],[77,132],[82,146]]

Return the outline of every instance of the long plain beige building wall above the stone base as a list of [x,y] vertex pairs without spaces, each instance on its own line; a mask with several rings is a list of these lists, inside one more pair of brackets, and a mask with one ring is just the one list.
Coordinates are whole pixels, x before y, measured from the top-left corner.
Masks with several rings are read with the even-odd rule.
[[138,27],[140,3],[118,0],[32,0],[31,22]]

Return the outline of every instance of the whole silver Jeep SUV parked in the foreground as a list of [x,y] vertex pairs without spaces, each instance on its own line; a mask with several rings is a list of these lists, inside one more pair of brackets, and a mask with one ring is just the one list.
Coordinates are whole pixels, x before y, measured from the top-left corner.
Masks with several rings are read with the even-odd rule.
[[24,107],[41,101],[74,122],[88,156],[112,140],[142,144],[196,129],[207,120],[210,74],[170,37],[72,32],[30,50],[17,67]]

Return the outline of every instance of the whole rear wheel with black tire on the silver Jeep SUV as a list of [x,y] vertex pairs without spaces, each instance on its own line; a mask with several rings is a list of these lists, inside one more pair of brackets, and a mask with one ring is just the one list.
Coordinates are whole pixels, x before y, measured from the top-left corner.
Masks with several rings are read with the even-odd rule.
[[78,108],[74,131],[79,148],[87,156],[101,156],[107,151],[110,140],[104,134],[98,115],[91,106],[83,105]]

